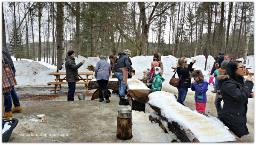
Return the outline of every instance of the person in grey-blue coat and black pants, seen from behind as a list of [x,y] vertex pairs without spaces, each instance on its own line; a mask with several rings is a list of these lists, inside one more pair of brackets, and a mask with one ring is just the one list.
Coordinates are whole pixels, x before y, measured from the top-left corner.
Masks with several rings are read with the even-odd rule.
[[109,103],[108,90],[106,86],[108,85],[109,76],[111,75],[110,64],[107,61],[106,56],[101,56],[101,59],[97,62],[95,67],[94,76],[99,84],[99,101],[104,100],[102,90],[104,91],[104,97],[106,102]]

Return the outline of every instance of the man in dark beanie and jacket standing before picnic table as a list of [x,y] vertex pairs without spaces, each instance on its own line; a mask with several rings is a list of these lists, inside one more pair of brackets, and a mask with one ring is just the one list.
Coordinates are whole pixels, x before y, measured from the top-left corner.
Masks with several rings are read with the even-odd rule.
[[74,100],[74,93],[76,90],[76,82],[79,81],[78,78],[78,69],[84,64],[84,59],[76,65],[75,63],[75,52],[73,50],[67,51],[67,56],[65,58],[65,67],[66,67],[66,79],[68,82],[68,93],[67,101]]

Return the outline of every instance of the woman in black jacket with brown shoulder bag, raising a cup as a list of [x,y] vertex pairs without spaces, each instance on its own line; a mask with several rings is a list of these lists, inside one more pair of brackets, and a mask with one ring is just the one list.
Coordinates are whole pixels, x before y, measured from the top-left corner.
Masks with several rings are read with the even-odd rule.
[[184,100],[186,99],[186,95],[188,92],[188,88],[190,88],[191,84],[191,78],[190,74],[193,72],[193,64],[195,63],[195,60],[192,59],[189,65],[187,65],[187,61],[184,57],[181,57],[178,59],[178,66],[177,66],[177,74],[180,78],[180,75],[182,75],[180,79],[179,86],[177,87],[178,89],[178,102],[181,103],[182,105]]

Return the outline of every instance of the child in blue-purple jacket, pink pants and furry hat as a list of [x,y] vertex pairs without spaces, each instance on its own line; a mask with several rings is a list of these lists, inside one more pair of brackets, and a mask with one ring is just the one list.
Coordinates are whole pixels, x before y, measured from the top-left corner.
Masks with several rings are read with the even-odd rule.
[[204,113],[207,102],[206,92],[208,90],[208,82],[204,81],[204,75],[201,70],[194,70],[190,76],[194,78],[190,89],[195,91],[195,109],[198,112]]

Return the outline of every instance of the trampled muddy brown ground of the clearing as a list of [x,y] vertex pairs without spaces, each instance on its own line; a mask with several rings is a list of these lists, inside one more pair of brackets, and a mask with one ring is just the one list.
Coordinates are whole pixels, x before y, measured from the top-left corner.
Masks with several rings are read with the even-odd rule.
[[[111,103],[90,100],[95,90],[85,93],[85,100],[79,100],[77,95],[84,93],[84,86],[76,86],[75,101],[67,102],[67,86],[57,89],[54,94],[53,86],[15,87],[23,106],[23,112],[15,113],[21,126],[21,134],[49,133],[69,134],[69,137],[23,137],[20,134],[12,134],[9,142],[140,142],[137,139],[120,140],[116,138],[117,110],[127,109],[127,106],[117,105],[119,98],[116,95],[110,97]],[[210,88],[210,86],[209,86]],[[164,91],[177,95],[177,88],[165,88]],[[215,94],[207,92],[206,114],[216,117],[214,105]],[[194,92],[189,91],[184,102],[185,106],[195,110]],[[253,103],[253,101],[249,101]],[[145,113],[153,112],[146,104]],[[43,122],[36,121],[38,114],[45,114],[47,118]],[[243,136],[244,142],[254,142],[254,107],[248,108],[247,127],[249,135]],[[81,126],[81,127],[79,127]],[[86,127],[84,127],[86,126]],[[16,127],[14,132],[18,133]]]

